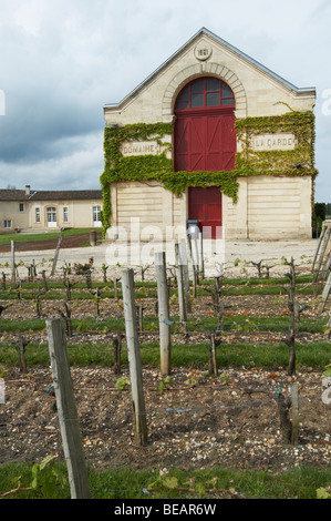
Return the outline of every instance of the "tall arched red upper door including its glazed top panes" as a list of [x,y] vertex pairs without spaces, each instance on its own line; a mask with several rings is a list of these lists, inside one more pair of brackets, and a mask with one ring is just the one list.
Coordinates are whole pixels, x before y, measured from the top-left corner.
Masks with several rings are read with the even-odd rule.
[[175,114],[176,171],[235,168],[235,96],[223,80],[189,82],[175,101]]

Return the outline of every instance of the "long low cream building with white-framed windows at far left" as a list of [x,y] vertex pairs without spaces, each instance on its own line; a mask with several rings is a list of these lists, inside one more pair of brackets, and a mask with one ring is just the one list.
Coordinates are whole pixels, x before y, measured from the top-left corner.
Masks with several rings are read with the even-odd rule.
[[0,190],[0,233],[101,227],[100,190]]

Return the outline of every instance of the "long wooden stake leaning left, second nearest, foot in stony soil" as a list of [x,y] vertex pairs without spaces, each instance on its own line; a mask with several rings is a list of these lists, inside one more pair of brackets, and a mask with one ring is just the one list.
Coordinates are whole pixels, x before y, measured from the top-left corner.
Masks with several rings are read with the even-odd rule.
[[138,343],[136,307],[134,299],[134,275],[132,268],[122,270],[122,292],[131,376],[135,439],[138,446],[144,446],[147,441],[147,422],[143,390],[143,371]]

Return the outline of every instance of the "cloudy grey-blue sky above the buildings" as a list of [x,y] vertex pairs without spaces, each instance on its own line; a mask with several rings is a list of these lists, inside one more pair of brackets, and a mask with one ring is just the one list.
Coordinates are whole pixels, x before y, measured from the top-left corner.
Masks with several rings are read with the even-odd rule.
[[0,0],[0,187],[100,188],[103,108],[205,27],[317,89],[316,201],[331,202],[330,0]]

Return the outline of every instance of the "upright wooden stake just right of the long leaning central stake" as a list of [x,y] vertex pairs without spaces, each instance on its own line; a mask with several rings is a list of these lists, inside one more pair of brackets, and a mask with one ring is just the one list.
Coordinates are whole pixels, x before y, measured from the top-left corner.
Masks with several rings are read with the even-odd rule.
[[155,254],[155,268],[157,279],[157,303],[159,321],[159,351],[161,374],[169,376],[172,371],[172,338],[169,324],[169,297],[166,276],[165,253]]

